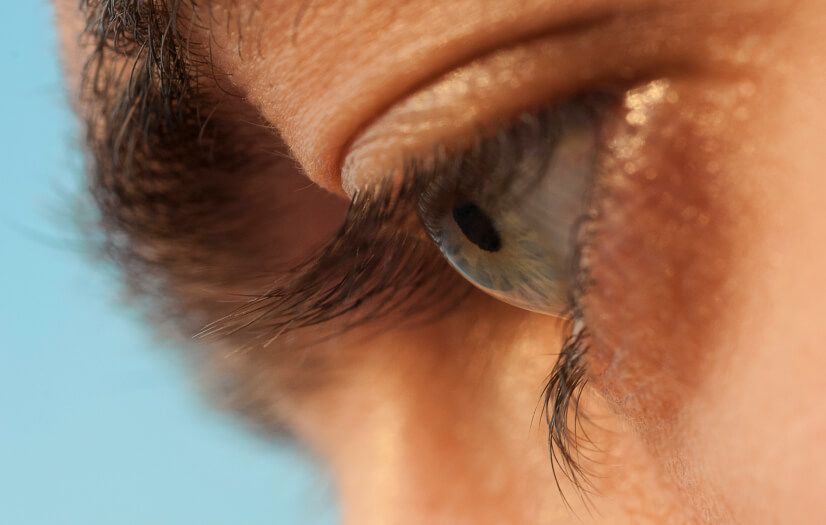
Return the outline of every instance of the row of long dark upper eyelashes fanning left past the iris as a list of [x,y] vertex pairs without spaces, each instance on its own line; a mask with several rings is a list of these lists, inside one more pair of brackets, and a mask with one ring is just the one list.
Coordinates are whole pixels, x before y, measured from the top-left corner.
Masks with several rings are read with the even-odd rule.
[[[553,116],[553,111],[544,114]],[[279,276],[271,290],[247,300],[211,323],[201,335],[254,333],[268,344],[288,330],[319,326],[347,315],[349,327],[394,314],[409,317],[464,294],[468,285],[449,267],[436,246],[413,224],[422,196],[466,178],[464,166],[478,168],[516,163],[523,154],[523,126],[546,129],[543,119],[524,115],[517,125],[490,136],[477,136],[467,148],[434,148],[433,160],[410,159],[402,181],[386,180],[354,196],[344,225],[320,251],[293,271]],[[545,132],[552,133],[553,127]],[[552,155],[552,148],[545,152]],[[536,177],[544,175],[540,170]],[[493,181],[503,193],[513,180]],[[520,181],[526,191],[537,181]],[[435,191],[439,191],[438,189]],[[427,222],[427,217],[421,218]],[[451,293],[457,290],[461,293]],[[426,305],[426,308],[424,306]],[[452,304],[451,304],[452,306]],[[404,314],[403,316],[399,314]]]

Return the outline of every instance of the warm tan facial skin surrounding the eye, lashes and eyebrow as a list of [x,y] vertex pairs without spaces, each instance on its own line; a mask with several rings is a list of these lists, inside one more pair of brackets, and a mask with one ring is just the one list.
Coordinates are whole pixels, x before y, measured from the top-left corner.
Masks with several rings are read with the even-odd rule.
[[[76,2],[57,5],[77,79]],[[338,195],[519,111],[665,81],[636,131],[609,124],[586,250],[599,282],[583,298],[589,503],[564,478],[571,509],[560,497],[534,410],[569,327],[479,294],[425,327],[320,344],[332,381],[263,387],[329,466],[345,523],[826,522],[826,5],[206,9],[211,34],[193,39],[214,43],[214,67],[278,130],[297,176]],[[302,210],[338,220],[340,202],[314,195]],[[303,377],[293,365],[283,382]]]

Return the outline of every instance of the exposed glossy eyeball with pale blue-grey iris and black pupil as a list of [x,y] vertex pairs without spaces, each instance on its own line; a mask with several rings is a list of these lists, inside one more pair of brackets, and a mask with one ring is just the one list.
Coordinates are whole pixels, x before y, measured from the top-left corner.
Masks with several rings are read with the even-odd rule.
[[419,215],[473,285],[527,310],[568,309],[574,229],[596,168],[594,115],[562,105],[437,160]]

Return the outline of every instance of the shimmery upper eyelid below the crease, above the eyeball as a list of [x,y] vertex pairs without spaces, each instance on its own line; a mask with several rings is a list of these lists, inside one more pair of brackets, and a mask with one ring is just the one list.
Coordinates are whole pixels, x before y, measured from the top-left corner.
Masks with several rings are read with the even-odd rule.
[[[640,19],[656,12],[633,13]],[[432,144],[461,148],[526,111],[539,111],[577,92],[625,86],[680,69],[672,53],[602,53],[624,18],[552,34],[503,48],[453,70],[399,101],[356,135],[342,163],[342,186],[352,195],[362,182],[400,168],[400,159],[432,153]],[[639,22],[642,23],[642,22]],[[577,60],[567,54],[576,52]],[[583,53],[586,53],[583,56]],[[609,53],[610,54],[610,53]],[[586,66],[582,67],[585,63]],[[551,67],[553,66],[553,67]]]

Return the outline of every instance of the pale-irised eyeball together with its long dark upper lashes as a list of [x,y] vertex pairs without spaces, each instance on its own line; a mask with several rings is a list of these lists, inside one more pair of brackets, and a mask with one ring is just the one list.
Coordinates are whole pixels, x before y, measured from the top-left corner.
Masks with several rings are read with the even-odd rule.
[[427,155],[404,156],[398,178],[353,192],[335,240],[296,267],[286,286],[207,332],[243,326],[266,338],[342,315],[350,326],[388,316],[416,322],[467,299],[467,283],[504,303],[569,318],[576,229],[587,218],[617,97],[605,89],[574,95],[492,131],[480,127],[463,146],[432,144]]

